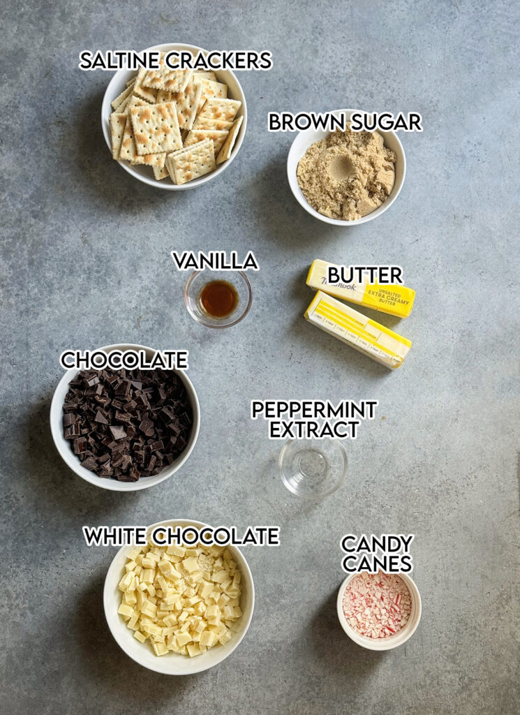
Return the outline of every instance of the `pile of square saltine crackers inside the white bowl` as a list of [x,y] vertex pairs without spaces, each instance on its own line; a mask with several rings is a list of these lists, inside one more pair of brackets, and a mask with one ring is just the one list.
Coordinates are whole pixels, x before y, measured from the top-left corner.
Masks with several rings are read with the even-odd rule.
[[112,157],[152,167],[160,181],[185,184],[231,156],[244,117],[211,71],[140,69],[114,99]]

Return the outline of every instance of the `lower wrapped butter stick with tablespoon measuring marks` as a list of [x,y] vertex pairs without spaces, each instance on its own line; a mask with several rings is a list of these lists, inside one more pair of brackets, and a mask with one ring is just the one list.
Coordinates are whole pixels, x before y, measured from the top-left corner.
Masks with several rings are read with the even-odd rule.
[[375,320],[319,290],[305,312],[305,319],[329,335],[339,338],[376,363],[395,370],[411,348],[406,337],[397,335]]

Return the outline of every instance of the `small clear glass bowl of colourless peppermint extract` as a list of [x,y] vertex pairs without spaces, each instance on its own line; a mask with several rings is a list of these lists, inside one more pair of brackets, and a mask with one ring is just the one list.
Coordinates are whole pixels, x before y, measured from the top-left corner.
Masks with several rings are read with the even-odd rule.
[[339,440],[288,440],[278,464],[289,491],[305,499],[321,499],[339,488],[348,460]]

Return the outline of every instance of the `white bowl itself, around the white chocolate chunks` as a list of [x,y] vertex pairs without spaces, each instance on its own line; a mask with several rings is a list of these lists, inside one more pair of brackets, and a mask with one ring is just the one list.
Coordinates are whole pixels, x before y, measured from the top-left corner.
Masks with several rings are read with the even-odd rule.
[[[169,521],[158,521],[149,527],[149,531],[156,526],[195,526],[202,528],[209,526],[201,521],[193,519],[173,519]],[[239,645],[240,641],[246,635],[251,618],[254,611],[254,583],[253,576],[249,569],[248,563],[244,555],[236,546],[229,546],[229,551],[233,554],[233,559],[238,563],[241,571],[241,587],[242,593],[240,598],[240,608],[242,615],[236,621],[234,626],[236,630],[231,636],[231,640],[224,646],[214,646],[206,653],[194,658],[183,656],[179,653],[168,653],[164,656],[156,656],[152,651],[148,641],[139,643],[134,638],[134,631],[126,627],[126,623],[119,616],[117,609],[121,605],[121,591],[117,588],[119,581],[124,576],[124,564],[126,563],[126,554],[131,551],[131,546],[124,546],[114,557],[114,561],[110,564],[109,571],[106,573],[105,586],[103,591],[103,605],[105,609],[106,622],[109,624],[110,631],[117,641],[117,644],[124,650],[127,656],[139,665],[164,675],[191,675],[200,673],[201,671],[213,668],[217,664],[224,661],[233,653],[234,649]]]

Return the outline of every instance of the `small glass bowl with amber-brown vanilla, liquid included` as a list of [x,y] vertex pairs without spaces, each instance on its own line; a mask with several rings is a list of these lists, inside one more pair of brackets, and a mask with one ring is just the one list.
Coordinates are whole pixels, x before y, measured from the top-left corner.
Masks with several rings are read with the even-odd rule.
[[194,271],[186,283],[189,314],[206,327],[231,327],[246,317],[253,294],[241,270]]

